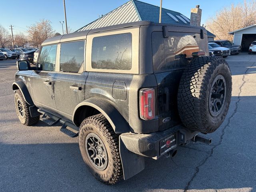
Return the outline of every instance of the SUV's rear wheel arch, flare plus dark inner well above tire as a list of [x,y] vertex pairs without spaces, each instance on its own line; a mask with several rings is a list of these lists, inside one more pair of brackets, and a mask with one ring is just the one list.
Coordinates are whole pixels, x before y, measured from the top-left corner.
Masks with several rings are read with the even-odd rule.
[[99,98],[87,99],[76,106],[73,112],[73,122],[76,126],[85,118],[102,113],[116,134],[130,132],[130,127],[118,110],[106,100]]

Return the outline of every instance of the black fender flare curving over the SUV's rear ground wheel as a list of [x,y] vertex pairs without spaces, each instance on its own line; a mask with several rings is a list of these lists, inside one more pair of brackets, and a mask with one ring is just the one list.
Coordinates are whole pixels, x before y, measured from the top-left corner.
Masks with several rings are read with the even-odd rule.
[[129,124],[120,114],[120,112],[110,102],[100,98],[89,98],[78,104],[73,112],[74,124],[76,124],[74,117],[76,116],[78,108],[81,106],[91,106],[101,112],[106,117],[116,134],[122,134],[131,131]]

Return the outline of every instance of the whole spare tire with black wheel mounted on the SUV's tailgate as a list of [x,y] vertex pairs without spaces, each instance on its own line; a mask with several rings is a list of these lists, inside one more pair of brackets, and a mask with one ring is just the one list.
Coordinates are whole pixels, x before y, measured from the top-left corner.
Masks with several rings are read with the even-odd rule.
[[222,57],[194,58],[178,89],[178,112],[191,131],[212,133],[224,121],[232,92],[232,77]]

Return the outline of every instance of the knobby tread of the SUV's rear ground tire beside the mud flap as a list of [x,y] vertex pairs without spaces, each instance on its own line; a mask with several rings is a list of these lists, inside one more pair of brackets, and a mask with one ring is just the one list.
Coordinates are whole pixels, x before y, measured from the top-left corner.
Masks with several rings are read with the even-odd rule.
[[[113,166],[114,170],[112,176],[110,179],[106,182],[103,182],[99,178],[95,177],[100,182],[103,182],[104,184],[115,184],[116,182],[122,180],[123,178],[123,169],[122,169],[122,162],[121,157],[119,153],[119,137],[114,132],[112,126],[106,119],[106,117],[103,114],[97,114],[94,116],[90,116],[86,119],[84,119],[80,125],[79,134],[81,128],[86,124],[93,124],[94,126],[98,127],[99,130],[103,133],[103,135],[107,138],[107,142],[109,144],[109,147],[111,149],[111,153],[113,155]],[[107,146],[106,146],[107,147]]]

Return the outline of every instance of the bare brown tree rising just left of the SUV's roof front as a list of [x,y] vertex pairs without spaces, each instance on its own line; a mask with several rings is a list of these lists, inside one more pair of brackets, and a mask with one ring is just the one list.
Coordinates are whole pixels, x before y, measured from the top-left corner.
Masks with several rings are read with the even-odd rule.
[[44,40],[54,36],[55,31],[52,29],[51,23],[50,20],[42,19],[28,27],[28,37],[34,46],[39,47]]

